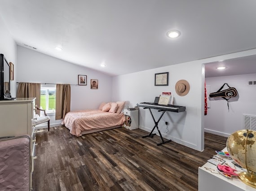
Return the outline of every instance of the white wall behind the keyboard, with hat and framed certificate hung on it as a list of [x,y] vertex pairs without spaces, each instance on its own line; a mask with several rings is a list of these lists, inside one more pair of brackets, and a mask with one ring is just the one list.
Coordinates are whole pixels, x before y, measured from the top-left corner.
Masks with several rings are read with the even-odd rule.
[[[113,100],[128,100],[130,106],[135,106],[140,102],[154,102],[155,96],[159,96],[163,91],[171,91],[175,98],[174,104],[185,106],[186,112],[165,113],[162,119],[168,121],[170,125],[166,133],[163,120],[159,122],[162,135],[177,143],[202,151],[204,148],[204,65],[202,64],[255,54],[256,49],[252,49],[116,76],[113,77]],[[169,86],[155,87],[154,74],[161,72],[169,72]],[[190,92],[184,97],[178,96],[175,92],[175,84],[180,79],[185,79],[190,83]],[[156,110],[153,114],[155,118],[160,116]],[[139,110],[139,124],[140,129],[148,132],[152,130],[154,122],[147,109]],[[160,140],[159,138],[159,142]]]

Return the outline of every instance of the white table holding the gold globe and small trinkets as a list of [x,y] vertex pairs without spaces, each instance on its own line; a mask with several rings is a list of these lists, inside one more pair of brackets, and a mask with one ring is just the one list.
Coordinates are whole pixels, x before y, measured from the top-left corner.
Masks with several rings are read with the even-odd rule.
[[[227,151],[226,148],[223,151]],[[243,183],[238,177],[226,178],[221,174],[211,173],[210,170],[215,169],[216,166],[207,162],[198,169],[198,190],[199,191],[256,191],[256,188],[250,187]]]

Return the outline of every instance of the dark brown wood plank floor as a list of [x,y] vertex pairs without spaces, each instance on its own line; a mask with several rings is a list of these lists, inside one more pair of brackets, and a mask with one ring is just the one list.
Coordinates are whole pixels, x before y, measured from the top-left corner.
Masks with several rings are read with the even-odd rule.
[[66,127],[36,134],[34,191],[140,191],[198,189],[198,167],[225,148],[226,139],[205,133],[198,152],[144,130],[116,128],[75,137]]

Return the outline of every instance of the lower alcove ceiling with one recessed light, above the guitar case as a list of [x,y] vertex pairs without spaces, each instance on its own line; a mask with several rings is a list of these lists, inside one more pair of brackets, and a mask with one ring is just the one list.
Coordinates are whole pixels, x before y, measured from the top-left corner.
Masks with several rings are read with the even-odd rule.
[[[225,69],[217,69],[225,66]],[[256,74],[256,55],[205,64],[205,77]]]

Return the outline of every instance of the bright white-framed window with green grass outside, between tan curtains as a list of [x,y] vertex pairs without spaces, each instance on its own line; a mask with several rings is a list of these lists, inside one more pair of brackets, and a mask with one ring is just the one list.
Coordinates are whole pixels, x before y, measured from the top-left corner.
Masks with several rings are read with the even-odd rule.
[[56,87],[42,87],[40,96],[40,108],[46,112],[55,112],[56,109]]

